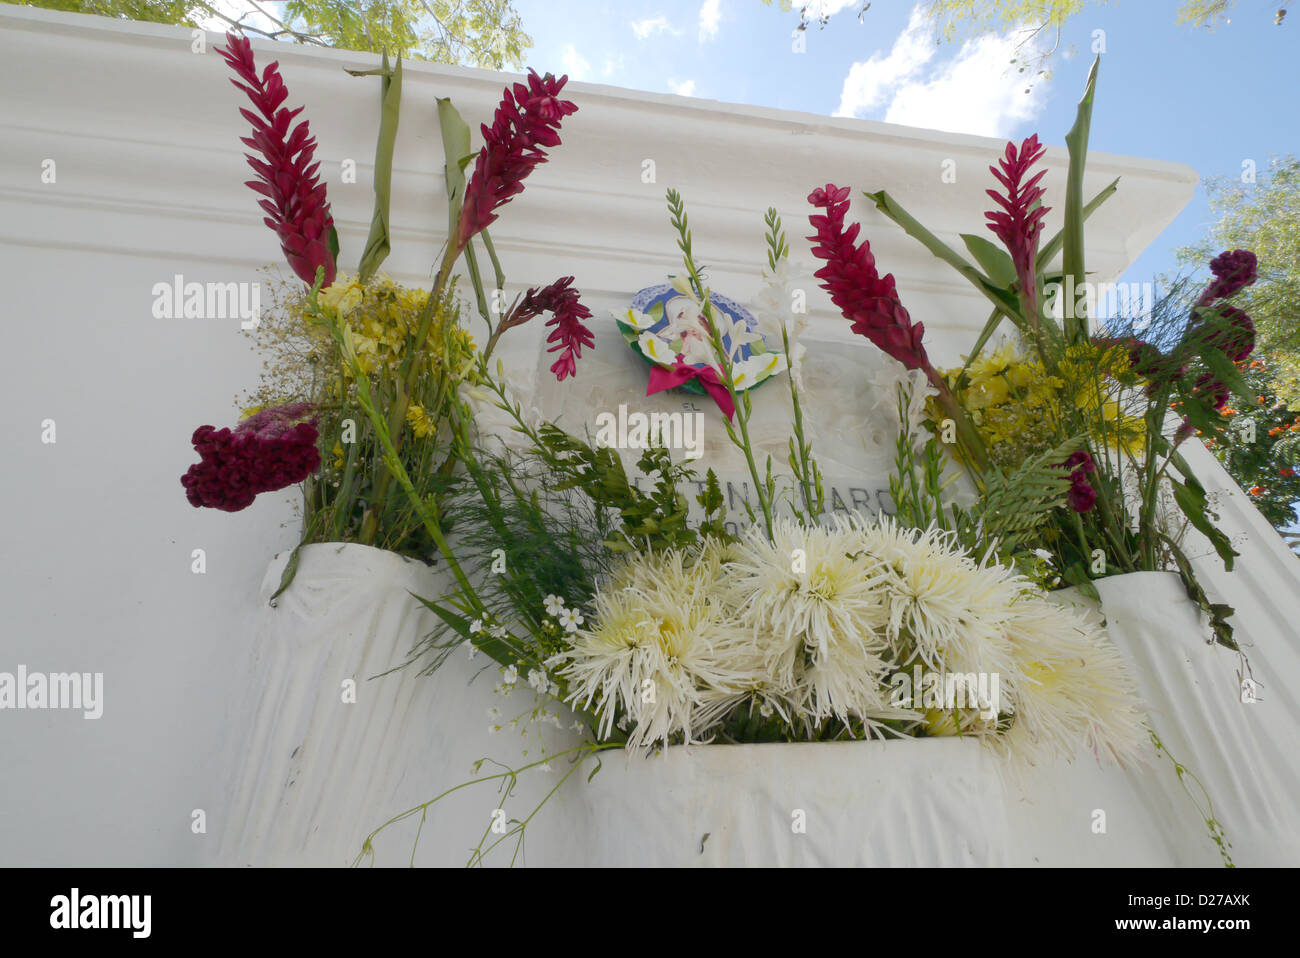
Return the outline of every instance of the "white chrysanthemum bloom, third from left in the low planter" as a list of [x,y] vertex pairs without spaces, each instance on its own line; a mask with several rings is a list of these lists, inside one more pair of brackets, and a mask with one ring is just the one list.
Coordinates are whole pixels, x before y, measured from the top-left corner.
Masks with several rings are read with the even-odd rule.
[[1027,586],[1013,568],[976,563],[940,529],[904,529],[888,516],[849,520],[858,549],[890,571],[888,634],[902,659],[915,654],[928,668],[1010,672],[1005,624]]

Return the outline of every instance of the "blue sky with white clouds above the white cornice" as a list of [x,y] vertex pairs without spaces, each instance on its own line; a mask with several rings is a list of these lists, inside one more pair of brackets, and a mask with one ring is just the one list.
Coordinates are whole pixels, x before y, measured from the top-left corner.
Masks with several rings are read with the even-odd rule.
[[[820,0],[833,13],[792,49],[797,13],[760,0],[515,0],[529,64],[573,79],[958,133],[1065,142],[1105,31],[1093,149],[1239,177],[1253,160],[1300,153],[1300,17],[1275,26],[1277,0],[1240,0],[1214,30],[1176,26],[1176,0],[1092,4],[1061,35],[1053,75],[1024,94],[1008,71],[1014,39],[935,43],[913,0]],[[1126,279],[1173,272],[1174,251],[1212,216],[1204,187]]]

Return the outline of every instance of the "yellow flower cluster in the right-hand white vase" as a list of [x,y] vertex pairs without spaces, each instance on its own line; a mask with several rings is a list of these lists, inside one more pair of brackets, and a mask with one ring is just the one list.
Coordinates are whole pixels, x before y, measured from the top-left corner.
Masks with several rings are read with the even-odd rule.
[[[1122,390],[1139,382],[1122,346],[1070,346],[1049,373],[1041,360],[1005,343],[975,357],[962,389],[959,372],[945,369],[942,376],[998,465],[1018,465],[1056,446],[1079,421],[1109,447],[1143,443],[1141,419],[1121,408]],[[932,421],[944,419],[933,400],[928,412]]]

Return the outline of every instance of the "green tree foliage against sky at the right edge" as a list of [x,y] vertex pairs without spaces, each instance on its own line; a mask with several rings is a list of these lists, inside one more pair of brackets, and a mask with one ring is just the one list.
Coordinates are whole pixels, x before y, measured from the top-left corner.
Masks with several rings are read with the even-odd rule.
[[1223,250],[1258,257],[1260,278],[1232,304],[1254,321],[1256,354],[1278,398],[1300,408],[1300,159],[1275,159],[1256,183],[1219,177],[1205,188],[1218,222],[1205,239],[1180,248],[1179,261],[1200,265]]

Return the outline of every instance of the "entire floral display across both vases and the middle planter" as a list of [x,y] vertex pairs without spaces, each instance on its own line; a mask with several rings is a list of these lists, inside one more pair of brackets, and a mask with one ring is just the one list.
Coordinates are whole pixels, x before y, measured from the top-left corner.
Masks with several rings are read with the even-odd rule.
[[[343,273],[311,162],[315,142],[306,121],[290,129],[298,110],[282,107],[278,68],[259,75],[238,38],[224,56],[259,110],[243,110],[254,126],[244,142],[264,157],[250,159],[259,174],[250,187],[306,289],[282,298],[264,333],[282,360],[256,396],[265,408],[233,430],[195,433],[203,461],[183,480],[190,500],[235,511],[261,491],[304,482],[303,542],[355,541],[439,562],[454,585],[420,599],[443,627],[428,641],[430,667],[462,646],[484,654],[503,690],[526,681],[536,692],[534,715],[558,718],[562,705],[577,715],[578,758],[611,747],[959,734],[1019,764],[1086,747],[1123,766],[1152,755],[1136,684],[1095,615],[1054,601],[1048,586],[1087,593],[1093,575],[1173,564],[1231,642],[1227,610],[1195,584],[1160,493],[1170,490],[1231,560],[1176,447],[1222,420],[1221,398],[1238,385],[1234,363],[1249,351],[1251,325],[1226,299],[1251,281],[1253,263],[1243,252],[1216,260],[1216,281],[1175,341],[1093,335],[1086,318],[1052,317],[1048,281],[1083,282],[1083,220],[1114,190],[1088,204],[1079,194],[1096,66],[1067,139],[1061,235],[1041,242],[1036,138],[1009,144],[991,168],[1002,188],[991,190],[998,208],[988,226],[1005,251],[965,237],[975,264],[888,194],[868,194],[992,302],[961,369],[932,364],[924,325],[848,220],[848,187],[828,183],[809,196],[811,253],[824,261],[816,277],[853,331],[904,370],[906,385],[889,398],[898,422],[892,521],[827,517],[805,434],[801,320],[785,295],[789,246],[777,212],[764,218],[759,333],[720,308],[685,200],[668,190],[682,266],[672,286],[705,352],[699,363],[677,354],[662,364],[658,387],[698,381],[724,413],[757,497],[757,508],[746,503],[753,525],[733,534],[711,469],[701,477],[653,443],[636,461],[647,482],[633,481],[615,448],[525,416],[500,360],[490,363],[507,330],[543,313],[558,381],[576,376],[595,346],[573,277],[491,311],[480,259],[503,289],[488,227],[546,149],[560,146],[559,127],[577,110],[560,99],[566,78],[530,71],[508,87],[477,153],[468,126],[439,100],[448,233],[430,290],[417,291],[377,272],[387,252],[385,164],[372,235],[356,273]],[[377,157],[390,166],[400,64],[385,60],[370,73],[382,79],[385,105]],[[1061,272],[1049,266],[1057,252]],[[481,348],[464,326],[473,305],[452,279],[460,263],[488,326]],[[640,341],[658,318],[629,313],[627,325]],[[985,354],[1002,321],[1018,342]],[[742,356],[740,346],[764,335],[763,350]],[[776,338],[780,352],[767,348]],[[748,389],[758,372],[783,369],[792,408],[785,474],[771,456],[758,461]],[[523,451],[478,429],[484,402],[510,419]],[[974,504],[959,507],[945,491],[957,468],[974,480]],[[1106,564],[1089,573],[1097,549]]]

